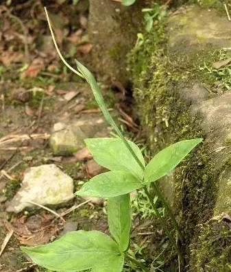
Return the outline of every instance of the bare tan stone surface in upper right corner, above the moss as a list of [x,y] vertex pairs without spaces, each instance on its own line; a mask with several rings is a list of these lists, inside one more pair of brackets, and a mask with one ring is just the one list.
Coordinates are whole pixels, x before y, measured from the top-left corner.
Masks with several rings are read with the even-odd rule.
[[186,13],[169,17],[169,50],[188,53],[204,49],[230,47],[230,22],[216,10],[187,7]]

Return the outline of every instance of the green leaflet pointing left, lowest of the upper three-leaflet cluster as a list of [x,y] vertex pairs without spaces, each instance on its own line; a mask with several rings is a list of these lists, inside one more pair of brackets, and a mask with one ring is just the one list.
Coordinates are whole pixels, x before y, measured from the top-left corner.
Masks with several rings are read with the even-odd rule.
[[75,195],[82,197],[117,197],[141,188],[134,175],[123,171],[110,171],[93,177]]

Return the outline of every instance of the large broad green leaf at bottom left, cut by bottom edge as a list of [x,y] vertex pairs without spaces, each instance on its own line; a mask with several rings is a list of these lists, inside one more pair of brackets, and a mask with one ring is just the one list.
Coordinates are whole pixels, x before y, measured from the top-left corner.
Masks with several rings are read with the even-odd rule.
[[80,230],[69,232],[47,245],[21,247],[32,261],[53,271],[121,272],[123,255],[106,234]]

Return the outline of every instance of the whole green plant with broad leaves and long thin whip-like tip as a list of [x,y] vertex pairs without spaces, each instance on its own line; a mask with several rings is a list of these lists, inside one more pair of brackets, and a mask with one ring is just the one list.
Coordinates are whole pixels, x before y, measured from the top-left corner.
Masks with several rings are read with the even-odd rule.
[[[47,10],[45,11],[47,14]],[[169,231],[167,223],[158,212],[154,197],[149,193],[147,186],[153,183],[156,195],[162,200],[169,217],[173,221],[178,237],[182,240],[180,227],[167,201],[160,193],[156,181],[172,171],[202,139],[182,140],[181,142],[175,143],[157,153],[156,156],[145,165],[141,150],[135,143],[126,140],[116,123],[114,123],[92,73],[90,73],[85,66],[80,64],[80,62],[77,62],[78,71],[66,63],[53,36],[48,14],[47,20],[60,58],[71,71],[86,79],[93,90],[95,99],[106,120],[120,137],[91,138],[85,140],[86,146],[90,153],[92,153],[95,161],[110,171],[93,177],[75,193],[80,196],[104,197],[108,199],[108,225],[112,238],[101,232],[86,232],[80,230],[69,232],[60,239],[47,245],[21,247],[21,249],[28,254],[36,264],[53,271],[74,272],[90,269],[91,272],[121,272],[126,259],[130,262],[134,262],[134,264],[141,267],[143,271],[149,272],[149,269],[141,262],[138,262],[128,254],[128,250],[130,249],[131,227],[130,193],[136,189],[144,188],[156,212],[156,216],[160,220],[160,223],[162,223],[165,233],[183,263],[184,260],[180,248],[177,243],[175,243],[175,239]]]

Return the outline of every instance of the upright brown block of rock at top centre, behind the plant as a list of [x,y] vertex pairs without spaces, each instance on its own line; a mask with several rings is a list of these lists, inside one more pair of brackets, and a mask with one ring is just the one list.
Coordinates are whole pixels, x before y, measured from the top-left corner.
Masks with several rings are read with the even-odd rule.
[[[108,76],[112,82],[125,85],[129,79],[125,56],[134,47],[136,33],[142,31],[141,10],[145,8],[145,1],[136,1],[129,8],[119,1],[90,0],[89,3],[88,35],[93,44],[92,65],[95,71],[100,71],[98,76],[101,78]],[[126,31],[123,27],[125,22],[129,25]]]

